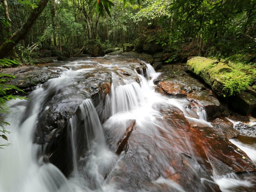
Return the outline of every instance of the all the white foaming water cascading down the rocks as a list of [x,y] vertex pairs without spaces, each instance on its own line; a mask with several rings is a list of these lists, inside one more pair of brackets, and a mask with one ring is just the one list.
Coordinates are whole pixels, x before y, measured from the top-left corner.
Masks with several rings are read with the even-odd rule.
[[[76,66],[80,65],[84,64],[74,62],[70,66],[75,70]],[[196,118],[191,116],[191,109],[186,107],[188,101],[170,99],[156,93],[153,80],[159,74],[150,65],[147,66],[148,72],[146,76],[148,79],[151,77],[151,80],[148,81],[143,74],[138,75],[141,79],[140,84],[131,79],[120,79],[119,76],[112,73],[111,94],[107,96],[109,98],[107,105],[112,111],[112,116],[103,124],[103,127],[90,99],[84,100],[79,106],[81,117],[74,115],[69,120],[74,171],[68,179],[53,164],[45,163],[43,156],[39,159],[37,158],[37,154],[41,154],[42,151],[40,146],[32,143],[33,132],[37,115],[41,110],[44,98],[47,96],[47,91],[52,89],[59,90],[63,86],[71,85],[76,76],[81,75],[81,73],[88,73],[93,69],[64,71],[59,78],[49,80],[46,84],[47,86],[45,86],[46,88],[39,86],[31,94],[31,100],[12,101],[12,104],[16,104],[11,108],[14,114],[9,115],[8,122],[11,123],[11,126],[6,127],[7,130],[12,132],[8,135],[12,146],[6,147],[5,150],[0,150],[0,192],[125,192],[125,190],[118,189],[115,183],[108,183],[105,180],[106,175],[119,168],[118,164],[122,156],[118,157],[109,150],[104,138],[103,128],[116,132],[116,138],[113,138],[113,141],[116,142],[126,129],[126,120],[135,119],[136,127],[140,128],[140,132],[149,136],[157,135],[159,133],[156,127],[163,130],[166,129],[164,124],[155,123],[157,119],[163,118],[157,110],[158,105],[175,106],[195,124],[211,126],[207,122],[207,116],[205,116],[205,111],[202,108],[197,109],[198,118]],[[114,68],[116,65],[107,65],[105,67]],[[19,103],[20,105],[18,105]],[[32,103],[30,115],[26,114],[25,106],[28,103]],[[25,114],[28,115],[28,118],[21,122]],[[84,124],[87,150],[83,156],[77,155],[76,148],[78,118],[87,122]],[[116,125],[118,125],[118,129],[113,129]],[[4,141],[0,140],[0,142],[2,144]],[[189,145],[186,141],[183,144]],[[193,153],[191,151],[187,152],[188,154]],[[162,152],[156,151],[156,153],[156,156],[159,153],[158,163],[164,164],[164,159],[161,159],[164,158],[161,154]],[[154,166],[152,169],[158,169],[157,165]],[[198,163],[195,163],[194,166],[192,167],[194,170],[200,167]],[[214,175],[214,180],[222,191],[227,192],[232,191],[230,189],[232,187],[252,185],[250,181],[240,180],[233,174],[225,176]],[[164,184],[174,191],[185,191],[175,181],[162,176],[152,180],[152,183],[159,185],[159,187]]]

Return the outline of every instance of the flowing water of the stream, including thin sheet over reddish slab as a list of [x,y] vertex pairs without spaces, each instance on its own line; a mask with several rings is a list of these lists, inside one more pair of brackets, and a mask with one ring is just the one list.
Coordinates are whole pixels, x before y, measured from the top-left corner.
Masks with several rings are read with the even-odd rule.
[[[11,146],[0,150],[0,192],[252,191],[255,180],[238,177],[234,171],[221,172],[223,164],[219,166],[213,152],[196,143],[193,126],[212,127],[204,109],[155,91],[153,81],[159,73],[145,63],[147,70],[140,68],[138,73],[131,63],[118,57],[103,63],[56,61],[49,70],[55,70],[58,78],[38,85],[27,96],[29,100],[10,101],[12,112],[5,120],[10,123],[6,129],[12,132],[8,135]],[[36,144],[36,127],[42,121],[40,114],[51,108],[51,98],[66,92],[90,95],[77,82],[94,71],[112,76],[104,100],[104,111],[110,116],[100,117],[95,108],[100,101],[88,97],[78,106],[79,113],[68,119],[72,172],[64,176],[49,162],[47,145]],[[117,155],[116,143],[134,120],[124,151]],[[255,151],[239,146],[238,141],[232,143],[255,162]]]

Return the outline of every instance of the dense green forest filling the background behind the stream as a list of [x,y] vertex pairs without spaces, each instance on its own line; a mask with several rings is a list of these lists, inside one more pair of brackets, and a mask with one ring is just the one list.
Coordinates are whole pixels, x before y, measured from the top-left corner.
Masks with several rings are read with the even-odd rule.
[[[103,50],[125,49],[151,34],[173,57],[193,50],[194,55],[252,62],[255,14],[254,0],[2,0],[1,52],[2,57],[17,53],[26,63],[40,49],[69,57],[86,53],[92,40]],[[18,30],[19,38],[11,39]],[[6,52],[6,41],[15,45],[12,52]]]

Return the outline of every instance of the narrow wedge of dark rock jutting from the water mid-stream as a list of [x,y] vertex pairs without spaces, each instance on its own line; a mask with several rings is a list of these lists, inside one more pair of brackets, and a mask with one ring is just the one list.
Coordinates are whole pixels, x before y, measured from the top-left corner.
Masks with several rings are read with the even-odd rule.
[[120,153],[124,150],[127,145],[127,140],[130,137],[133,127],[136,123],[136,120],[132,119],[128,122],[125,133],[122,135],[121,139],[116,143],[116,154],[120,155]]

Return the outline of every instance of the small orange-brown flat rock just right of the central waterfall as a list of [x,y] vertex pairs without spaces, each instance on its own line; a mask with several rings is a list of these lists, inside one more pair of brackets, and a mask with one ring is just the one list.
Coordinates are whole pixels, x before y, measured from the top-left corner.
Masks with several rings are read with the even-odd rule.
[[186,97],[187,93],[183,90],[183,85],[172,81],[160,82],[157,86],[164,90],[164,93],[174,97]]

